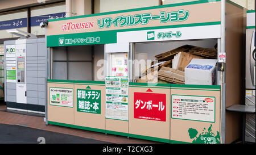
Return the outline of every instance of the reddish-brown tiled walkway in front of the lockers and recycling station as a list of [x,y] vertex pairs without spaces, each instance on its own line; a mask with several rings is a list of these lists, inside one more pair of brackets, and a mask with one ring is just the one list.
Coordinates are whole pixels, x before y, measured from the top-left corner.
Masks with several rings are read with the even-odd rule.
[[[0,110],[5,110],[6,105],[0,103]],[[14,125],[24,125],[30,128],[43,129],[46,131],[59,132],[68,135],[74,135],[79,137],[91,138],[95,140],[108,141],[110,143],[117,144],[156,144],[154,141],[133,139],[123,136],[115,136],[115,135],[105,135],[105,133],[98,133],[92,131],[84,131],[81,129],[74,129],[68,127],[59,127],[56,125],[46,125],[43,120],[43,117],[37,116],[29,116],[29,115],[21,115],[14,114],[10,112],[0,111],[0,124],[14,124]]]

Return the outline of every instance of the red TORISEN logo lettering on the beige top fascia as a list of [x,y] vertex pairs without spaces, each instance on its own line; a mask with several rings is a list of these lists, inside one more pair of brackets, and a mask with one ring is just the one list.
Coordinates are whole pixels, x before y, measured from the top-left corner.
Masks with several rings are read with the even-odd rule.
[[93,22],[82,22],[82,23],[68,22],[67,24],[62,25],[62,31],[81,30],[81,29],[87,29],[92,27],[93,27]]

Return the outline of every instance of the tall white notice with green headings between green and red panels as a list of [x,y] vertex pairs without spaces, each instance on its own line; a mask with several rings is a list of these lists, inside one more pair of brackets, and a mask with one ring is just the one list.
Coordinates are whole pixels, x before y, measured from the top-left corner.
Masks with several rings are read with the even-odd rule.
[[106,118],[129,120],[129,80],[106,77]]

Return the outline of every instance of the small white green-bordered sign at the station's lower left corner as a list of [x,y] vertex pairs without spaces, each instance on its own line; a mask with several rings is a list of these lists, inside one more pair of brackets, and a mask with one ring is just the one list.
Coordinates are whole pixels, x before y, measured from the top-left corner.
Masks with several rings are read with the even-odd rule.
[[49,95],[50,105],[73,107],[73,89],[50,87]]

